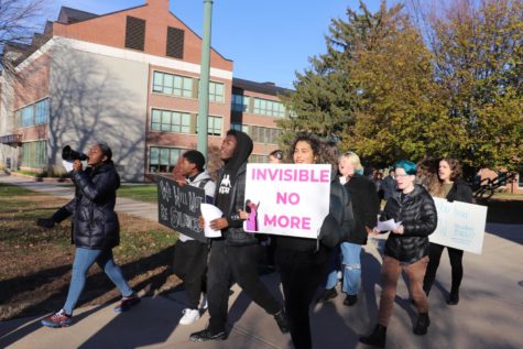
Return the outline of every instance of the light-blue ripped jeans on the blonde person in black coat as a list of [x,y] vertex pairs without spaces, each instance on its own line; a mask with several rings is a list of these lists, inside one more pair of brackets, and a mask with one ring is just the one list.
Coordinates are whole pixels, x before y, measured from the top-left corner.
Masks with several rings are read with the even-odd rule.
[[[344,264],[344,285],[342,291],[350,295],[358,294],[361,283],[361,244],[342,242],[340,244],[341,250],[341,264]],[[336,255],[333,257],[333,260],[336,259]],[[334,262],[334,268],[331,269],[329,275],[327,276],[327,284],[325,288],[333,288],[336,286],[338,281],[337,263]]]

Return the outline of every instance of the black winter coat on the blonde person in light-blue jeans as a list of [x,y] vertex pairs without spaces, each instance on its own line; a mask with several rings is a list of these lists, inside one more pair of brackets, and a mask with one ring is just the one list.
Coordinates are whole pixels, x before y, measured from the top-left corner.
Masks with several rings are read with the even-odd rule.
[[374,228],[380,211],[380,199],[375,185],[364,176],[355,175],[344,186],[349,190],[352,199],[352,210],[356,219],[355,229],[346,241],[366,244],[368,237],[366,226],[370,229]]

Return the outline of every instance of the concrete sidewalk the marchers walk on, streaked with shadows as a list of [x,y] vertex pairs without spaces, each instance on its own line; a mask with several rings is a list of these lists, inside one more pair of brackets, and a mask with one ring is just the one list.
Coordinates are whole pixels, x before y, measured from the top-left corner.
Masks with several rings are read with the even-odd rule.
[[[0,182],[9,181],[0,176]],[[59,185],[17,184],[66,195]],[[142,214],[152,206],[135,204],[134,214],[144,217]],[[122,206],[119,203],[117,209],[126,211],[124,207],[124,203]],[[155,220],[156,217],[149,218]],[[426,336],[412,334],[415,308],[408,301],[404,282],[400,281],[386,348],[523,348],[523,226],[488,225],[487,230],[483,253],[465,254],[461,301],[457,306],[445,303],[450,266],[444,253],[429,297],[431,327]],[[366,348],[358,338],[368,334],[375,321],[381,290],[378,248],[382,242],[370,240],[363,249],[362,287],[356,306],[344,306],[344,296],[339,295],[334,302],[312,309],[314,348]],[[281,298],[277,274],[265,275],[263,281]],[[185,307],[185,296],[179,292],[145,297],[123,314],[112,312],[115,304],[78,308],[75,324],[68,328],[42,327],[40,318],[2,321],[0,348],[292,348],[290,336],[279,331],[272,316],[251,303],[238,286],[232,291],[230,335],[225,341],[195,343],[188,340],[190,332],[206,326],[208,315],[195,325],[178,326]]]

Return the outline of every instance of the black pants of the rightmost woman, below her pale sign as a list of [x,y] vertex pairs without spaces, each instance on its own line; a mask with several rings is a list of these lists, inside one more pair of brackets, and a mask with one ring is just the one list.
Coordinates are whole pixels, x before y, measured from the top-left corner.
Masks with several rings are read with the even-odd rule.
[[[437,243],[431,243],[431,248],[428,251],[428,265],[427,271],[425,273],[425,279],[423,280],[423,290],[428,293],[436,280],[436,272],[437,268],[439,266],[439,260],[442,259],[443,250],[445,249],[444,246]],[[459,286],[461,285],[461,279],[464,277],[464,265],[462,265],[462,258],[464,251],[457,250],[453,248],[448,248],[448,257],[450,259],[450,266],[453,273],[453,284],[450,287],[451,294],[459,293]]]

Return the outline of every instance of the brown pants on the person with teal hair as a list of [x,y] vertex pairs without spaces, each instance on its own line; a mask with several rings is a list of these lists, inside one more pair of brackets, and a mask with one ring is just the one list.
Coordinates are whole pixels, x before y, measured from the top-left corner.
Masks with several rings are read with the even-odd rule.
[[378,314],[378,324],[389,326],[389,320],[392,315],[392,307],[394,305],[394,297],[396,295],[397,279],[400,279],[401,271],[406,273],[408,277],[408,291],[418,313],[428,313],[427,295],[423,291],[423,276],[427,269],[428,257],[412,264],[403,264],[399,260],[385,255],[383,258],[383,265],[381,266],[381,298],[380,310]]

